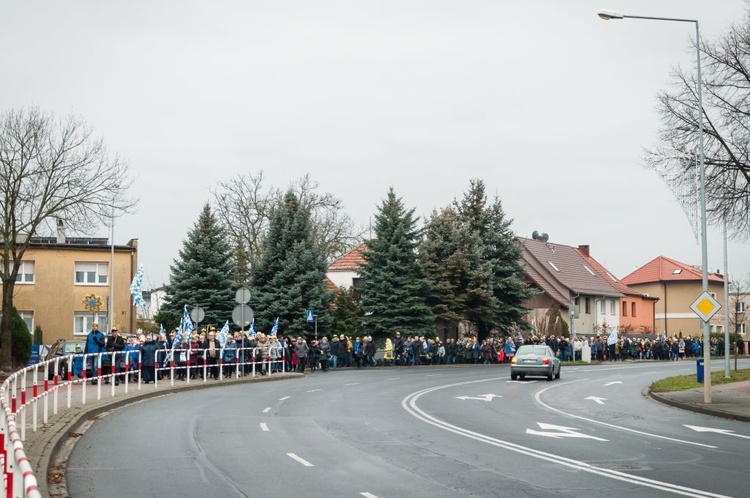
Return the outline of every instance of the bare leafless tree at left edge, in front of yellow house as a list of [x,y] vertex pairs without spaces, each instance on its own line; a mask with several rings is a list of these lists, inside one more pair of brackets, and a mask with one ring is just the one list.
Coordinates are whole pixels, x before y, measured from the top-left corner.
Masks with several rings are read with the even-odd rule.
[[90,233],[113,213],[132,210],[127,172],[78,117],[56,119],[37,108],[0,115],[1,370],[12,370],[13,291],[31,238],[51,232],[58,219]]

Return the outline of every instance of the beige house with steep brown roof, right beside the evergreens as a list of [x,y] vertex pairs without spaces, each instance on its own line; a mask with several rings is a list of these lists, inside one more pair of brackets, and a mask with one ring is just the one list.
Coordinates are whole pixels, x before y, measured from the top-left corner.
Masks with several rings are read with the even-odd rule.
[[577,335],[597,335],[620,326],[619,303],[624,294],[595,269],[588,246],[580,246],[585,251],[579,251],[545,240],[516,240],[523,246],[520,263],[526,281],[540,291],[525,303],[531,309],[526,321],[537,334],[547,333],[546,320],[555,308]]

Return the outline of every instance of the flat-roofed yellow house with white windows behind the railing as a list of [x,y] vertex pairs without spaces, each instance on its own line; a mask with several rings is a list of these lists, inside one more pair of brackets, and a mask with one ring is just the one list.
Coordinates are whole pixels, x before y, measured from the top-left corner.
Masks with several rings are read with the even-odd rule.
[[[95,321],[102,331],[109,332],[114,324],[121,332],[132,332],[136,315],[129,288],[137,264],[138,239],[112,246],[106,238],[34,237],[18,271],[13,303],[29,331],[42,328],[45,344],[83,339]],[[96,313],[86,310],[83,302],[92,293],[103,303]]]

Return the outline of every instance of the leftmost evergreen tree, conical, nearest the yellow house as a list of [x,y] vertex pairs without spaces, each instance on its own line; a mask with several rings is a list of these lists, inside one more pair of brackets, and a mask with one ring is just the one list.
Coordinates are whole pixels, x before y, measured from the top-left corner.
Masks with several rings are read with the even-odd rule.
[[179,323],[185,305],[188,309],[200,306],[205,312],[201,324],[221,327],[231,319],[236,284],[229,244],[208,204],[183,241],[179,255],[170,266],[164,312]]

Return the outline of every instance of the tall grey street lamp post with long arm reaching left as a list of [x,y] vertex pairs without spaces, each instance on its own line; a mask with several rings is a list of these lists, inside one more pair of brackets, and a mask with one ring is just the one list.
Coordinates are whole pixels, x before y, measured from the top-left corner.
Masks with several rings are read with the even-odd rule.
[[[706,167],[703,154],[703,81],[701,77],[701,34],[697,19],[672,17],[626,16],[621,12],[600,10],[599,17],[611,19],[645,19],[649,21],[690,22],[695,24],[695,54],[698,69],[698,157],[700,160],[700,205],[701,205],[701,266],[703,292],[708,292],[708,238],[706,236]],[[708,322],[703,321],[703,401],[711,403],[711,335]]]

